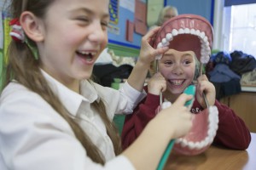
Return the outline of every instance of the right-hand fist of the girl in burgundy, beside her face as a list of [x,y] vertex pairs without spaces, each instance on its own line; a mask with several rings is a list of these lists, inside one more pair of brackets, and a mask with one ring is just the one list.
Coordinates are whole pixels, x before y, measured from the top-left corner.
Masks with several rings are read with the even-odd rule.
[[207,105],[205,103],[205,100],[203,99],[203,94],[206,94],[207,100],[209,105],[214,105],[215,99],[216,99],[216,92],[215,87],[212,84],[212,82],[208,81],[208,78],[206,75],[202,75],[201,77],[197,78],[197,85],[196,85],[196,99],[199,102],[199,104],[206,109]]

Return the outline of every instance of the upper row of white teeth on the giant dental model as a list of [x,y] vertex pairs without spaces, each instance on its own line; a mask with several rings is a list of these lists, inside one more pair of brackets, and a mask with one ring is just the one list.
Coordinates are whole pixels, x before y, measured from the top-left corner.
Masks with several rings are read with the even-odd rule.
[[[180,28],[178,31],[173,29],[172,32],[166,33],[166,37],[162,38],[161,42],[158,43],[157,48],[168,47],[170,42],[173,40],[173,37],[176,37],[179,34],[191,34],[199,37],[201,42],[201,56],[197,57],[200,57],[201,63],[207,64],[210,59],[211,48],[209,46],[210,43],[208,41],[208,37],[204,31],[189,28]],[[158,59],[159,58],[160,56],[158,56]]]

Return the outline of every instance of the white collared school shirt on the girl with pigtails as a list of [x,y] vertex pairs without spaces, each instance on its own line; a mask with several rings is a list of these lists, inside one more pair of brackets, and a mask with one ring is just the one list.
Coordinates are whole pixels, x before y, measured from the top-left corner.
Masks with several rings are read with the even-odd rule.
[[114,113],[130,113],[145,93],[127,82],[117,91],[83,81],[80,95],[44,71],[43,74],[67,111],[80,118],[79,125],[102,151],[106,164],[102,167],[86,156],[72,128],[44,99],[19,83],[10,82],[0,100],[0,169],[134,169],[125,156],[115,157],[106,127],[90,104],[103,99],[108,117],[113,120]]

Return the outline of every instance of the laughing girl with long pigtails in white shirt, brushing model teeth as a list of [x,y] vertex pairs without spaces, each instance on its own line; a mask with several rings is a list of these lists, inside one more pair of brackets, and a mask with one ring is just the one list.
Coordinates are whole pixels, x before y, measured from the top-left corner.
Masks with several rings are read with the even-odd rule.
[[150,62],[168,49],[149,45],[158,29],[143,37],[137,64],[118,91],[90,80],[108,43],[108,0],[9,3],[13,40],[0,98],[1,170],[155,169],[168,142],[188,133],[191,115],[183,105],[192,96],[184,94],[120,150],[113,116],[131,113],[144,95]]

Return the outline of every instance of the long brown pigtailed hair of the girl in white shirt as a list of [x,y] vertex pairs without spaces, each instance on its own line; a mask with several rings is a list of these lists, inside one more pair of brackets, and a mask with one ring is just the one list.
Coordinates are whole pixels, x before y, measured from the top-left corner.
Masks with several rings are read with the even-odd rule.
[[[30,11],[38,18],[44,19],[49,5],[54,0],[12,0],[10,4],[10,11],[13,18],[19,18],[23,11]],[[26,37],[27,38],[27,37]],[[32,40],[28,40],[33,43]],[[7,68],[6,83],[7,85],[12,79],[15,79],[26,88],[31,89],[33,92],[39,94],[49,105],[51,105],[55,111],[57,111],[72,127],[73,132],[80,143],[84,146],[87,155],[93,161],[104,164],[104,156],[101,151],[93,144],[90,137],[79,126],[78,121],[75,118],[69,116],[67,109],[61,104],[60,99],[49,88],[42,72],[40,71],[40,58],[35,59],[32,49],[24,42],[12,41],[9,45],[9,65]],[[113,147],[116,155],[121,152],[121,144],[119,139],[119,133],[113,122],[109,120],[106,112],[105,105],[102,101],[94,102],[92,107],[100,113],[103,122],[106,125],[107,133],[113,142]],[[86,129],[85,129],[86,131]]]

